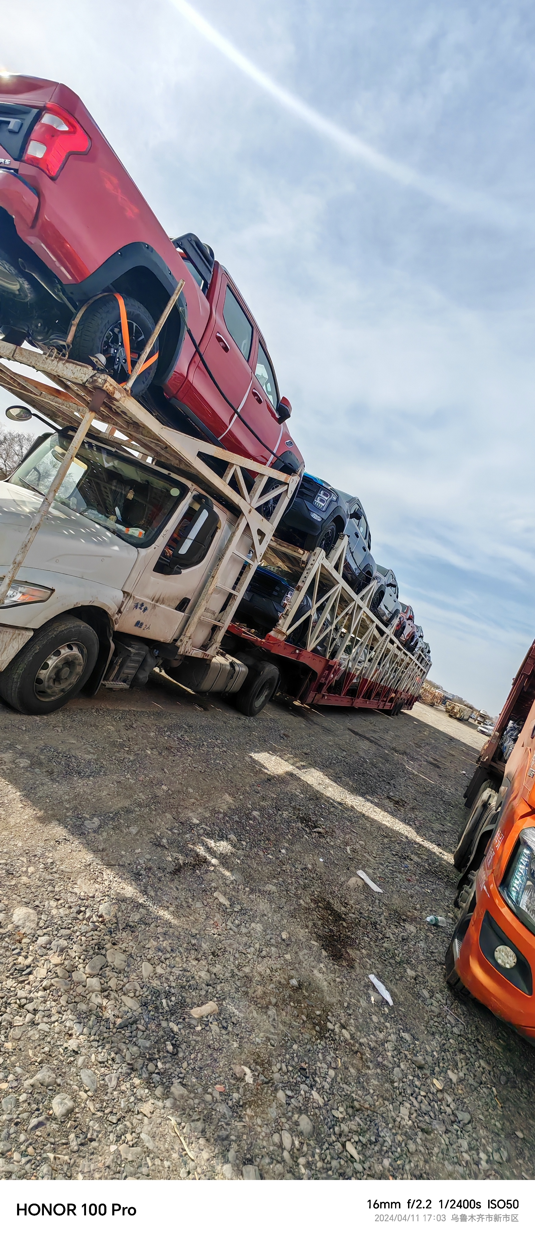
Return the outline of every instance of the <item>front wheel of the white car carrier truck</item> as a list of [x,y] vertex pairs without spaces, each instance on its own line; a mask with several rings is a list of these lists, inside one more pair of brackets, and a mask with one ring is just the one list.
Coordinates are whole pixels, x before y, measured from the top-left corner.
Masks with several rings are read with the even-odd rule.
[[52,620],[22,647],[0,675],[0,696],[20,714],[52,714],[85,684],[99,642],[74,616]]

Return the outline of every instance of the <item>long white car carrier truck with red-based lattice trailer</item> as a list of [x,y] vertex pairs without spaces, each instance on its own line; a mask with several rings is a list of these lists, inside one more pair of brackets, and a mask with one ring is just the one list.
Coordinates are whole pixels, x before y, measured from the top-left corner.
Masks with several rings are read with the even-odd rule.
[[[276,540],[300,472],[162,425],[98,367],[0,341],[0,385],[22,401],[12,416],[30,404],[52,419],[0,483],[0,696],[46,714],[160,670],[248,715],[277,689],[306,705],[410,707],[430,663],[374,617],[372,587],[347,585],[347,539],[328,556]],[[263,639],[233,622],[260,564],[295,579]]]

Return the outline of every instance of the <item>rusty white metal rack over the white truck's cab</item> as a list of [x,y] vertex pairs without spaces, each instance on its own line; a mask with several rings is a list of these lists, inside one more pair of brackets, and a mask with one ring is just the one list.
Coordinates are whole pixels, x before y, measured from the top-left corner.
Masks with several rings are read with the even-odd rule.
[[[173,299],[171,299],[168,309],[172,307],[172,304]],[[52,416],[59,427],[73,427],[76,431],[73,444],[76,441],[77,449],[95,418],[97,410],[98,419],[104,424],[105,430],[99,430],[93,424],[93,436],[113,444],[114,450],[128,450],[149,461],[156,458],[166,467],[178,470],[182,477],[193,482],[194,486],[202,487],[234,515],[233,533],[215,561],[177,642],[181,653],[212,658],[246,590],[251,574],[261,561],[279,519],[300,484],[301,473],[281,473],[268,465],[260,465],[255,460],[238,456],[224,447],[215,447],[213,444],[163,426],[137,403],[135,396],[125,388],[119,387],[105,372],[94,370],[90,366],[84,366],[80,362],[66,361],[58,357],[56,351],[37,353],[0,341],[0,358],[5,359],[4,363],[0,361],[0,385],[16,398],[26,400],[40,413]],[[26,374],[11,369],[5,362],[28,367],[37,373],[37,377],[28,378]],[[47,378],[57,387],[51,387]],[[118,432],[124,437],[118,439]],[[73,445],[71,445],[67,456],[69,453],[73,455]],[[63,476],[69,463],[67,456],[62,466]],[[66,461],[67,467],[64,467]],[[212,467],[212,463],[218,461],[227,463],[223,477]],[[246,473],[255,476],[250,491],[245,483],[244,475]],[[58,475],[31,524],[28,532],[31,538],[26,535],[7,569],[4,579],[4,595],[20,570],[31,541],[61,486],[62,478],[58,482],[57,478]],[[235,489],[230,483],[234,483]],[[275,510],[269,519],[260,510],[268,496],[271,507],[276,499]],[[246,554],[238,550],[244,535],[249,541]],[[232,556],[237,559],[237,574],[234,587],[229,589],[222,581],[228,576]],[[219,612],[214,613],[209,602],[217,590],[225,590],[227,602]],[[193,633],[197,624],[203,621],[211,624],[211,637],[208,643],[197,648],[193,643]]]

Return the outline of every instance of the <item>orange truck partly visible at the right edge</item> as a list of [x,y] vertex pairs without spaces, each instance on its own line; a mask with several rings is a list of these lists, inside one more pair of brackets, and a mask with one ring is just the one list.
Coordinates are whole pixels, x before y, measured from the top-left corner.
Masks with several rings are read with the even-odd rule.
[[466,792],[446,979],[535,1041],[535,643]]

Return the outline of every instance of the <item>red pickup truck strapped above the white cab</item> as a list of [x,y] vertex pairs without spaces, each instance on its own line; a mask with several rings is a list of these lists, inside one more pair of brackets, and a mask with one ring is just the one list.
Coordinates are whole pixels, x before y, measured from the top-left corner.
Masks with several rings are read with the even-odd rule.
[[183,292],[134,394],[167,425],[298,468],[290,401],[280,399],[261,333],[213,250],[191,233],[166,235],[68,87],[2,77],[4,338],[52,344],[76,361],[100,354],[124,383],[178,280]]

